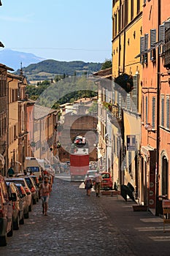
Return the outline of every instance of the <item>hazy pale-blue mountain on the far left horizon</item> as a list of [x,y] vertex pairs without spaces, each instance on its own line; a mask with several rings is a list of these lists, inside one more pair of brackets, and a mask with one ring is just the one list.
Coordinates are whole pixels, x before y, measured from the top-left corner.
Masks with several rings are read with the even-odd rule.
[[0,50],[0,63],[5,64],[12,69],[20,69],[20,63],[22,67],[27,67],[29,64],[38,63],[45,60],[44,58],[37,57],[32,53],[23,53],[16,50],[4,49]]

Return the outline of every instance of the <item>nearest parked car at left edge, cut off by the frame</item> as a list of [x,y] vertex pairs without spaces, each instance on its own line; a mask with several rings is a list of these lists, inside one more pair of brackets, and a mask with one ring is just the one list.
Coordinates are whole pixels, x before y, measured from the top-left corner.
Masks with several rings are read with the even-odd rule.
[[15,200],[15,195],[12,195],[12,198],[9,197],[7,184],[4,177],[0,175],[0,246],[6,246],[7,236],[13,234],[12,200]]

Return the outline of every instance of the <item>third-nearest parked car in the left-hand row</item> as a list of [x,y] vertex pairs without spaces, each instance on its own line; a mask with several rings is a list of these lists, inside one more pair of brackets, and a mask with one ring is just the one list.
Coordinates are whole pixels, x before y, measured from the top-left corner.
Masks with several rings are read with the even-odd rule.
[[20,199],[23,201],[23,215],[25,219],[29,217],[29,199],[26,194],[26,190],[21,184],[15,183],[15,186],[18,188]]

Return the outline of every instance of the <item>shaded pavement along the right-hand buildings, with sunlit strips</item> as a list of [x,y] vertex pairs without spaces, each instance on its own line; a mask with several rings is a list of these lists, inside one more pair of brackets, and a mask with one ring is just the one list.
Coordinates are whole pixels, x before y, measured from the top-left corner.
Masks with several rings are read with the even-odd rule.
[[[84,188],[82,184],[80,188]],[[165,225],[164,233],[163,219],[155,217],[154,212],[134,211],[136,203],[131,199],[125,202],[121,195],[101,195],[98,198],[92,191],[90,199],[101,205],[135,255],[170,255],[170,225]]]

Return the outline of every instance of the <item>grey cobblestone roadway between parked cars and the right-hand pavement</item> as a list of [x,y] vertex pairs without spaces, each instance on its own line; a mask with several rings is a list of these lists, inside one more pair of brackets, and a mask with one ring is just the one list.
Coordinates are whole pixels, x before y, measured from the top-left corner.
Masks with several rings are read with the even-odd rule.
[[39,200],[7,246],[0,247],[0,255],[137,255],[129,247],[131,238],[120,232],[104,210],[104,196],[91,193],[88,197],[79,185],[55,178],[48,216],[42,215]]

